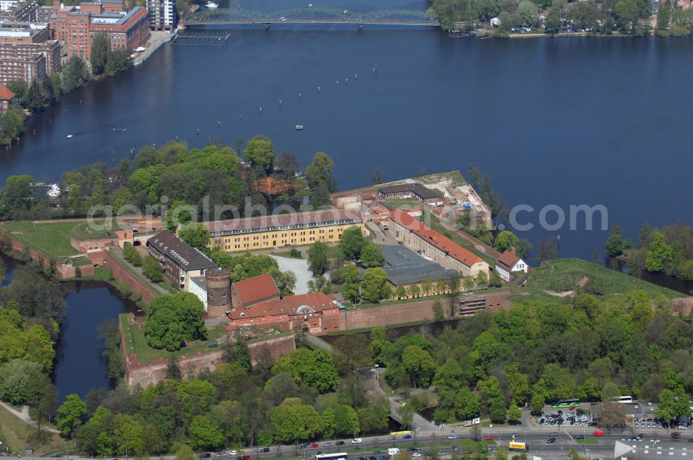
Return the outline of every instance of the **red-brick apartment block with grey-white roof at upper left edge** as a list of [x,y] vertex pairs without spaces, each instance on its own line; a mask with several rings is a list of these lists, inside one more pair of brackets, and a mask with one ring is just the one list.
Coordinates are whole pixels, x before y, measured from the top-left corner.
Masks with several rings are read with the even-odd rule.
[[10,80],[42,81],[60,71],[60,44],[48,24],[0,23],[0,85]]

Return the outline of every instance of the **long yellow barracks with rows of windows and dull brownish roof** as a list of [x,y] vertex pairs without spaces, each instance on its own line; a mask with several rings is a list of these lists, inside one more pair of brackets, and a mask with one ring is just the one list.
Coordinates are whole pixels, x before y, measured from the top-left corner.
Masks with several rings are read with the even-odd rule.
[[328,209],[217,220],[204,225],[211,236],[210,247],[234,252],[310,245],[315,241],[338,242],[349,227],[356,225],[363,231],[363,218],[359,210]]

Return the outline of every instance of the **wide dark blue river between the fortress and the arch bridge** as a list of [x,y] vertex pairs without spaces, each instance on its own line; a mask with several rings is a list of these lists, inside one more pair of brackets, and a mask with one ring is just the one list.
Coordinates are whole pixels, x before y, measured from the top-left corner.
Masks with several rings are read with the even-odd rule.
[[[393,6],[416,7],[390,0],[374,8]],[[603,204],[608,225],[635,237],[645,220],[693,224],[692,45],[690,37],[502,41],[428,29],[239,28],[221,49],[165,46],[142,67],[65,96],[30,121],[37,134],[0,155],[0,181],[56,179],[173,136],[234,145],[263,133],[304,164],[319,150],[331,154],[341,188],[369,184],[375,166],[398,179],[477,162],[511,206],[536,210],[522,222],[538,226],[549,204],[566,217],[570,205]],[[113,131],[121,126],[128,130]],[[606,239],[584,231],[582,219],[576,231],[566,222],[518,234],[535,245],[555,234],[561,256],[584,258]]]

